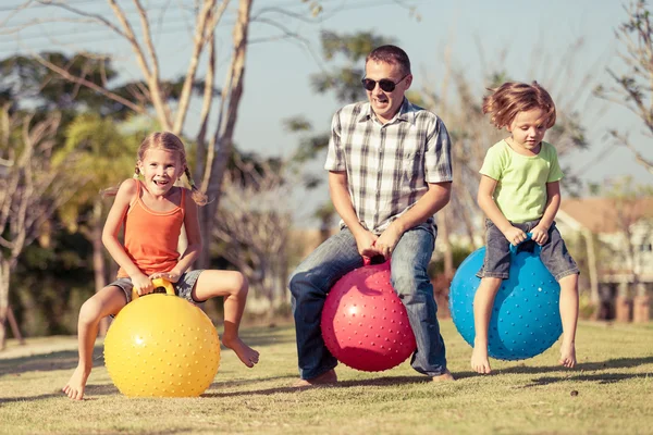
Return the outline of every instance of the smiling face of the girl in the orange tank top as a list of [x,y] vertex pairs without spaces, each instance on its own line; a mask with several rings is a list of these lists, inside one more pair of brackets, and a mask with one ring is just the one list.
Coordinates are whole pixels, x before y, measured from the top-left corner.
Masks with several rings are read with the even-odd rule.
[[138,162],[138,169],[147,189],[156,196],[168,194],[185,170],[178,152],[162,149],[145,151],[144,159]]

